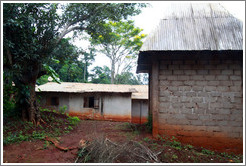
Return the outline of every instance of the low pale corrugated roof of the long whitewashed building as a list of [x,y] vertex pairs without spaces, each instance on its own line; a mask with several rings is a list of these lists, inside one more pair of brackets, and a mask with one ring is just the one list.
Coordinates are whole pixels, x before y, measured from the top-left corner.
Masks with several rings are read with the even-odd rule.
[[148,99],[147,85],[116,85],[116,84],[91,84],[48,82],[36,87],[36,92],[67,92],[67,93],[88,93],[88,92],[105,92],[105,93],[132,93],[132,99]]

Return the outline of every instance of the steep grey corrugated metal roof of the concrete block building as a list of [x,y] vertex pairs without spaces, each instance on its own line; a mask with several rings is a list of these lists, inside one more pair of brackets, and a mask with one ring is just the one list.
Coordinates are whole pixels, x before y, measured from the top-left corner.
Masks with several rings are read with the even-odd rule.
[[243,23],[220,4],[173,4],[140,51],[242,50]]

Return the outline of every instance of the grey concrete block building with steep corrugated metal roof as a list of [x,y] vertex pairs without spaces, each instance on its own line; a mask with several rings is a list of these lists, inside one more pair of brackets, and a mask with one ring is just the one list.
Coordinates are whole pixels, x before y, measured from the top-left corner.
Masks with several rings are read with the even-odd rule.
[[243,23],[219,4],[175,4],[147,37],[153,135],[243,152]]

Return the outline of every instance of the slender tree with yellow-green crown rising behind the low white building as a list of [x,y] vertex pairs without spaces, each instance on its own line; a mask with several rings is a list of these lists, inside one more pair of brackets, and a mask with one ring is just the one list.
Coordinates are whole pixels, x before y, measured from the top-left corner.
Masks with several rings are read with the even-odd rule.
[[[140,35],[142,29],[134,27],[133,21],[109,21],[102,25],[103,31],[92,34],[92,43],[99,46],[100,52],[106,55],[111,62],[111,83],[115,83],[115,76],[126,60],[136,58],[146,36]],[[126,66],[130,66],[129,61]]]

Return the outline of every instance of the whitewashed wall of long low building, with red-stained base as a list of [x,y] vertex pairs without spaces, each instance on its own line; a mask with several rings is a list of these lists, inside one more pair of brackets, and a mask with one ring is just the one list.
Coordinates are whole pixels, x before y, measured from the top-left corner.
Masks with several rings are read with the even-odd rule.
[[[70,115],[83,119],[131,122],[131,93],[39,93],[41,106],[60,110],[66,106]],[[59,105],[51,105],[51,98],[59,98]],[[94,97],[97,107],[84,107],[85,97]]]

